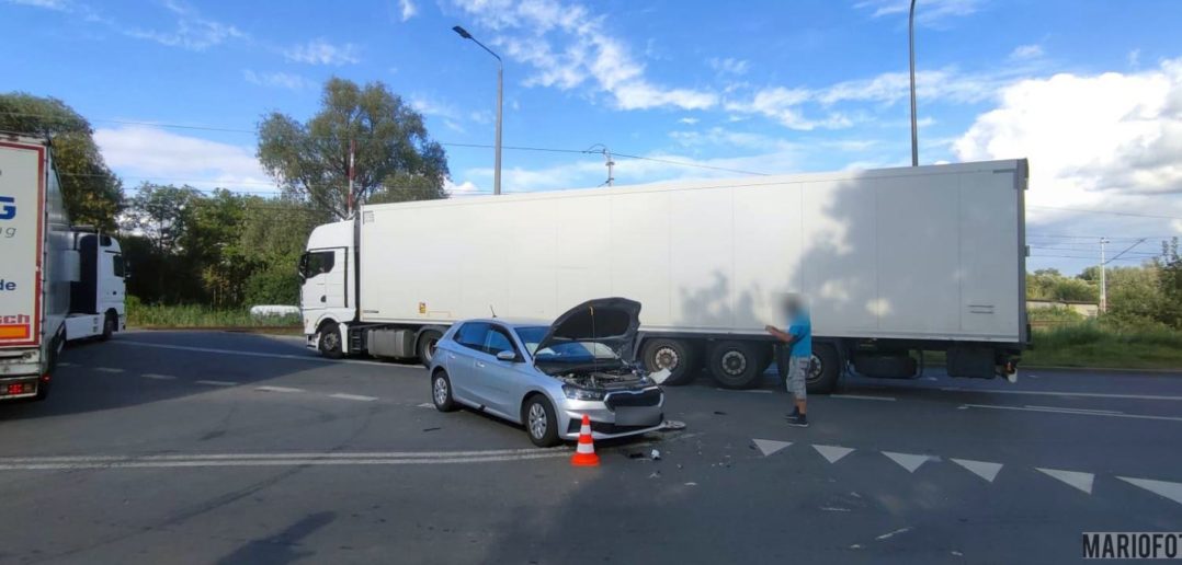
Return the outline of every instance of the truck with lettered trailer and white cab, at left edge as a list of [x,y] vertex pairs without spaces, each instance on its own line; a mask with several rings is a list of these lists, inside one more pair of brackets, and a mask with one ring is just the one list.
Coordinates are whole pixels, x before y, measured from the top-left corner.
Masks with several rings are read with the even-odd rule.
[[47,139],[0,133],[0,400],[44,399],[66,340],[124,329],[119,243],[70,225]]

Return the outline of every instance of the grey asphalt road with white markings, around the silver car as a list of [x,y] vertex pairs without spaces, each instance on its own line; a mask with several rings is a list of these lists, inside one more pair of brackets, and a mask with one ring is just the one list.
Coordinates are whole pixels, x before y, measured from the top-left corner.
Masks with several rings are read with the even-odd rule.
[[[570,447],[299,339],[118,334],[0,405],[13,563],[1060,563],[1182,530],[1182,375],[667,390],[683,432]],[[647,455],[658,449],[660,460]],[[1145,482],[1144,480],[1158,481]]]

